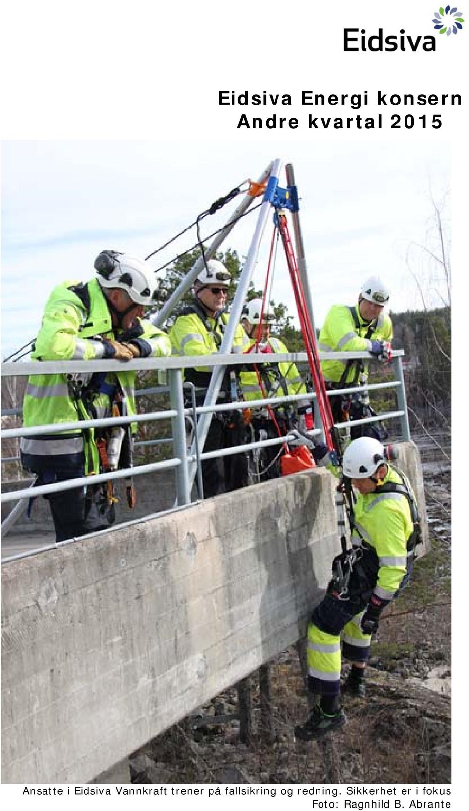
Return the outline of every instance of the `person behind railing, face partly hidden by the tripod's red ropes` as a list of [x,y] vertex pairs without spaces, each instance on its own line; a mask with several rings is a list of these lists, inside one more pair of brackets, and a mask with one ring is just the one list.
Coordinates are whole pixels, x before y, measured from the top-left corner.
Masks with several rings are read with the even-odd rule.
[[[273,313],[264,309],[262,298],[248,301],[241,314],[241,323],[249,339],[244,352],[269,354],[288,354],[289,350],[280,338],[270,335],[270,328],[275,320]],[[267,360],[267,358],[266,358]],[[308,399],[297,400],[284,405],[255,408],[256,400],[270,397],[291,397],[307,394],[307,388],[298,367],[291,361],[282,363],[260,363],[256,369],[252,366],[239,372],[239,387],[243,398],[252,401],[252,410],[248,413],[247,424],[252,429],[252,441],[278,438],[279,432],[286,435],[298,420],[303,431],[313,427],[312,405]],[[273,422],[275,420],[275,423]],[[278,462],[282,445],[267,446],[263,449],[261,475],[263,480],[277,478],[281,475]]]

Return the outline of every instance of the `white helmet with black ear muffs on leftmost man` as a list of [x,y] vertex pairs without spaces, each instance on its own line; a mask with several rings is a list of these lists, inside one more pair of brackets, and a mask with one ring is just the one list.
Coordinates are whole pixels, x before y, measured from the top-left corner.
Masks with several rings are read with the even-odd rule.
[[155,303],[160,281],[142,260],[118,251],[101,251],[94,267],[101,287],[119,287],[136,304],[150,307]]

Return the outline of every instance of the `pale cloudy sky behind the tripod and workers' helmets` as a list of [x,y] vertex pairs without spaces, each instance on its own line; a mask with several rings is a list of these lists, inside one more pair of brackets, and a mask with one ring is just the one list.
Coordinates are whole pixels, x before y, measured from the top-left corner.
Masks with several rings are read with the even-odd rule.
[[[170,141],[7,140],[2,144],[2,358],[35,337],[50,290],[88,281],[105,247],[144,257],[173,238],[213,200],[276,157],[292,163],[317,326],[333,303],[354,303],[379,275],[399,312],[423,306],[411,271],[424,282],[427,306],[441,304],[443,276],[424,247],[437,250],[433,203],[450,238],[450,150],[383,141],[337,145],[286,140],[197,145],[197,161]],[[286,185],[281,175],[281,184]],[[203,221],[202,237],[220,228],[241,198]],[[247,255],[258,212],[223,247]],[[263,288],[271,218],[253,281]],[[193,228],[149,264],[159,268],[196,243]],[[165,271],[158,273],[164,277]],[[429,285],[429,281],[432,285]],[[272,298],[295,317],[282,247]]]

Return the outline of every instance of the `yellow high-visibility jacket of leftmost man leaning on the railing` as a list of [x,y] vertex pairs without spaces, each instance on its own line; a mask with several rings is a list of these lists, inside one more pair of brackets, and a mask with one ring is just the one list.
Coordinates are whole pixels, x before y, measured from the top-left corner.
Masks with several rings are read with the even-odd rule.
[[[77,295],[83,291],[84,295]],[[86,306],[89,303],[89,307]],[[140,338],[152,346],[152,357],[170,355],[170,339],[150,321],[140,320],[143,332]],[[54,288],[45,305],[41,329],[35,341],[32,359],[40,362],[50,360],[93,360],[105,354],[99,337],[117,338],[112,328],[111,315],[101,287],[96,279],[87,285],[78,282],[64,282]],[[38,370],[40,363],[38,363]],[[92,375],[83,375],[90,379]],[[84,380],[86,383],[87,380]],[[101,381],[101,392],[93,395],[93,407],[97,416],[109,415],[110,392],[117,382],[122,387],[127,414],[136,414],[135,384],[136,371],[110,372]],[[103,391],[102,389],[105,389]],[[90,415],[91,416],[91,415]],[[55,423],[78,423],[88,418],[83,402],[77,402],[73,392],[73,380],[67,375],[31,375],[24,395],[24,426],[49,425]],[[45,449],[50,453],[70,453],[71,444],[78,452],[83,450],[83,435],[76,431],[54,435],[56,440],[41,440],[41,436],[22,437],[20,448],[23,453],[43,456]],[[93,431],[91,432],[93,436]],[[63,449],[60,446],[63,443]],[[66,449],[67,448],[67,449]]]

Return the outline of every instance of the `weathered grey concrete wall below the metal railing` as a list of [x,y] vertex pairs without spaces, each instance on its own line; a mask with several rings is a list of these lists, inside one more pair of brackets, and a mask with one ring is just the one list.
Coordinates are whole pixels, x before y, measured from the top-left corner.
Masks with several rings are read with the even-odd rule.
[[313,470],[4,564],[2,782],[89,781],[295,642],[333,496]]

